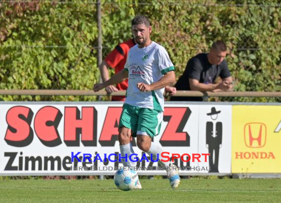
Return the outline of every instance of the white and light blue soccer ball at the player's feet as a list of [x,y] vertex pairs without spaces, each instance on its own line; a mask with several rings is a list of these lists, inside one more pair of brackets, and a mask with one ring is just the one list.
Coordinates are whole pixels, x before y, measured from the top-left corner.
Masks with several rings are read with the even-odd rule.
[[114,183],[123,191],[133,190],[139,181],[138,173],[128,167],[118,169],[114,174]]

